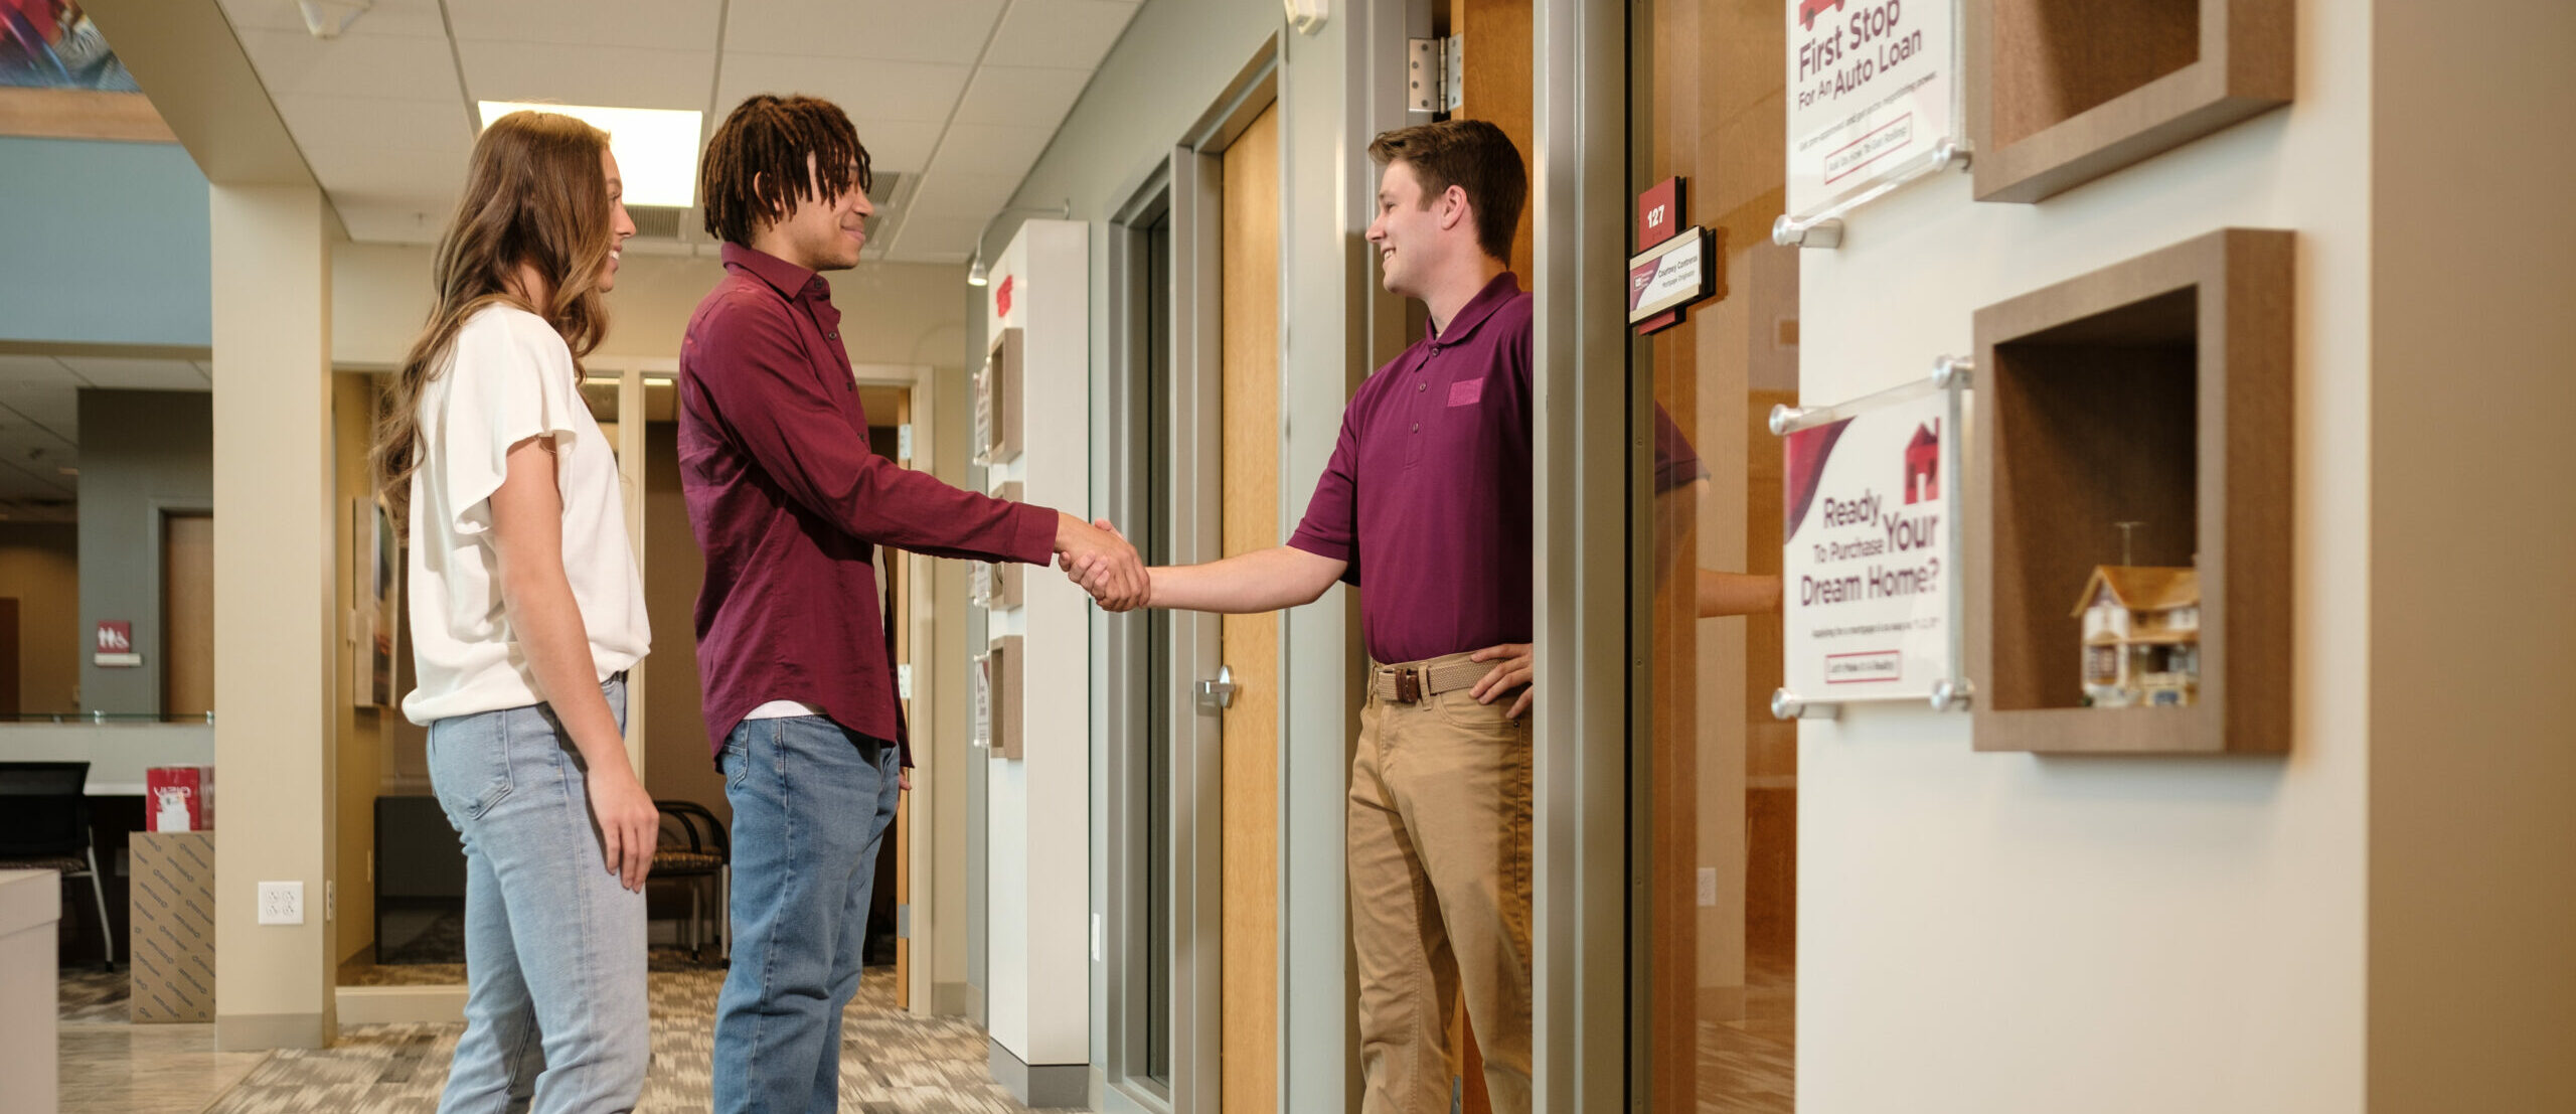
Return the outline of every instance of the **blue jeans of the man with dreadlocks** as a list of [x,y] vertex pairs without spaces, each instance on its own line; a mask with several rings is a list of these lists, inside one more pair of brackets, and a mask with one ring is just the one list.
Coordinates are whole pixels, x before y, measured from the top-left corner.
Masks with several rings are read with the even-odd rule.
[[824,717],[726,735],[734,967],[716,995],[719,1114],[840,1109],[840,1011],[858,993],[899,761],[894,743]]

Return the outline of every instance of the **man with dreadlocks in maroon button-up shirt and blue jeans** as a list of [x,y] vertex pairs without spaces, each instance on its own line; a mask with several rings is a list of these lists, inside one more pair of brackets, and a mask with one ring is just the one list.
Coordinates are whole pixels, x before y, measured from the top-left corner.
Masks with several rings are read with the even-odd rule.
[[829,101],[755,95],[706,147],[724,281],[680,343],[680,485],[706,549],[698,673],[734,807],[734,964],[716,1001],[719,1111],[829,1111],[858,990],[876,848],[912,766],[876,596],[878,544],[1108,567],[1105,523],[948,487],[868,451],[868,418],[819,271],[858,266],[868,150]]

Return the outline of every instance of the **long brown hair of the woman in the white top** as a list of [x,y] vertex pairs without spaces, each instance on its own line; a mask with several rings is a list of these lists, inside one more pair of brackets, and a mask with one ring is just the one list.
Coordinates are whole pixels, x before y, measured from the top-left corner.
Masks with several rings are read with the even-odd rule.
[[[438,304],[412,351],[402,356],[368,454],[376,490],[392,505],[399,534],[412,523],[420,392],[443,369],[456,330],[469,317],[489,304],[513,304],[544,317],[572,348],[574,376],[582,374],[582,356],[608,335],[600,271],[616,248],[616,204],[608,199],[608,170],[600,168],[605,150],[608,132],[574,116],[538,111],[502,116],[474,139],[464,196],[430,260]],[[546,276],[551,289],[546,304],[528,304],[510,291],[520,266]]]

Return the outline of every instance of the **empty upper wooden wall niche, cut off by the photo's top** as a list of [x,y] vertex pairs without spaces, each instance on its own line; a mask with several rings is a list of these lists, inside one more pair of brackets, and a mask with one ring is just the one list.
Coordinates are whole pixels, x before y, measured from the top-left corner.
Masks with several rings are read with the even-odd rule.
[[2290,103],[2293,0],[1968,0],[1978,201],[2043,201]]

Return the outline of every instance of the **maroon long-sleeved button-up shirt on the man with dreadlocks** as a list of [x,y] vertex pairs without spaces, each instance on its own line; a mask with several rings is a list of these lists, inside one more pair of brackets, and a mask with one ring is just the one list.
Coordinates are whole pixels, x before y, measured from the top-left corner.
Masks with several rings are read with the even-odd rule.
[[680,340],[680,487],[706,549],[698,673],[714,753],[773,699],[902,740],[878,544],[1028,565],[1056,547],[1054,511],[956,490],[868,451],[832,289],[742,245],[724,245],[724,281]]

